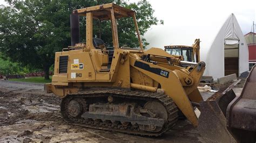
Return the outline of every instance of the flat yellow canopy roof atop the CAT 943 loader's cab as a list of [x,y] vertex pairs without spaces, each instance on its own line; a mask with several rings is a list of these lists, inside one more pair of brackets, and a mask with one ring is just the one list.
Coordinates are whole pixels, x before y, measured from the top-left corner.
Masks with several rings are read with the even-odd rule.
[[78,13],[80,16],[86,16],[87,12],[93,12],[93,18],[100,20],[107,20],[111,9],[113,9],[115,18],[131,17],[134,13],[133,10],[123,8],[122,6],[114,3],[91,6],[88,8],[73,10],[73,14]]

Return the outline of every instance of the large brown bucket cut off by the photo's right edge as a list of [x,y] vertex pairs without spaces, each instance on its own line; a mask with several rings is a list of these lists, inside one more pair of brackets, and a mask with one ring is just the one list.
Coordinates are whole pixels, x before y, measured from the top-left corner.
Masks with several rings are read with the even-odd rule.
[[227,107],[227,128],[239,142],[256,142],[256,66],[251,69],[241,95]]

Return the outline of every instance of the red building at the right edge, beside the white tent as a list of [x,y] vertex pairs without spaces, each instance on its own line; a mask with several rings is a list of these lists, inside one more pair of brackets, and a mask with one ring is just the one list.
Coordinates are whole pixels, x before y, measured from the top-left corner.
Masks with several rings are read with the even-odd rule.
[[[254,36],[254,42],[253,42],[253,36]],[[249,69],[251,70],[252,67],[256,64],[256,33],[249,32],[245,34],[245,40],[248,45]]]

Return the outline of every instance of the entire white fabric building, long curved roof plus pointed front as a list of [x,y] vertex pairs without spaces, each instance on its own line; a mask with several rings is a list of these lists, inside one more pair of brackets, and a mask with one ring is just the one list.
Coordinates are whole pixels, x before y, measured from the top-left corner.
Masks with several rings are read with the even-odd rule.
[[239,76],[248,71],[248,47],[233,13],[226,21],[221,13],[218,19],[213,20],[209,16],[203,19],[205,22],[199,23],[195,20],[189,25],[186,20],[180,19],[177,22],[153,26],[145,34],[150,43],[147,48],[192,45],[194,39],[200,38],[200,60],[206,62],[205,76],[213,76],[217,80],[225,76],[225,73],[237,73]]

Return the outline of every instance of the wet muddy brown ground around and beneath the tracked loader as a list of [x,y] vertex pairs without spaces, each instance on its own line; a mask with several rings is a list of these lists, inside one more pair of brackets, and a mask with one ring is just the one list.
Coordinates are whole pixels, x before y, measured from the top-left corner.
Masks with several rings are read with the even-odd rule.
[[43,84],[0,81],[0,142],[204,142],[187,120],[157,138],[69,125],[60,115],[60,102],[45,94]]

